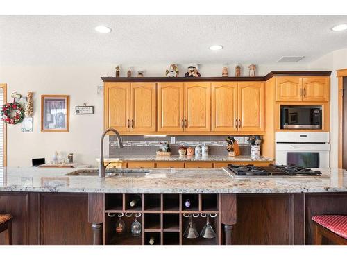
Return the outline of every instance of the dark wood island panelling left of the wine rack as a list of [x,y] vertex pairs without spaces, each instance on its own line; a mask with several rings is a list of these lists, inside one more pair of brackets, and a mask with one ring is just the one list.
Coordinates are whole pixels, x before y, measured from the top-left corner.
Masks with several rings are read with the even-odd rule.
[[13,216],[14,245],[92,245],[87,193],[0,192],[0,212]]

